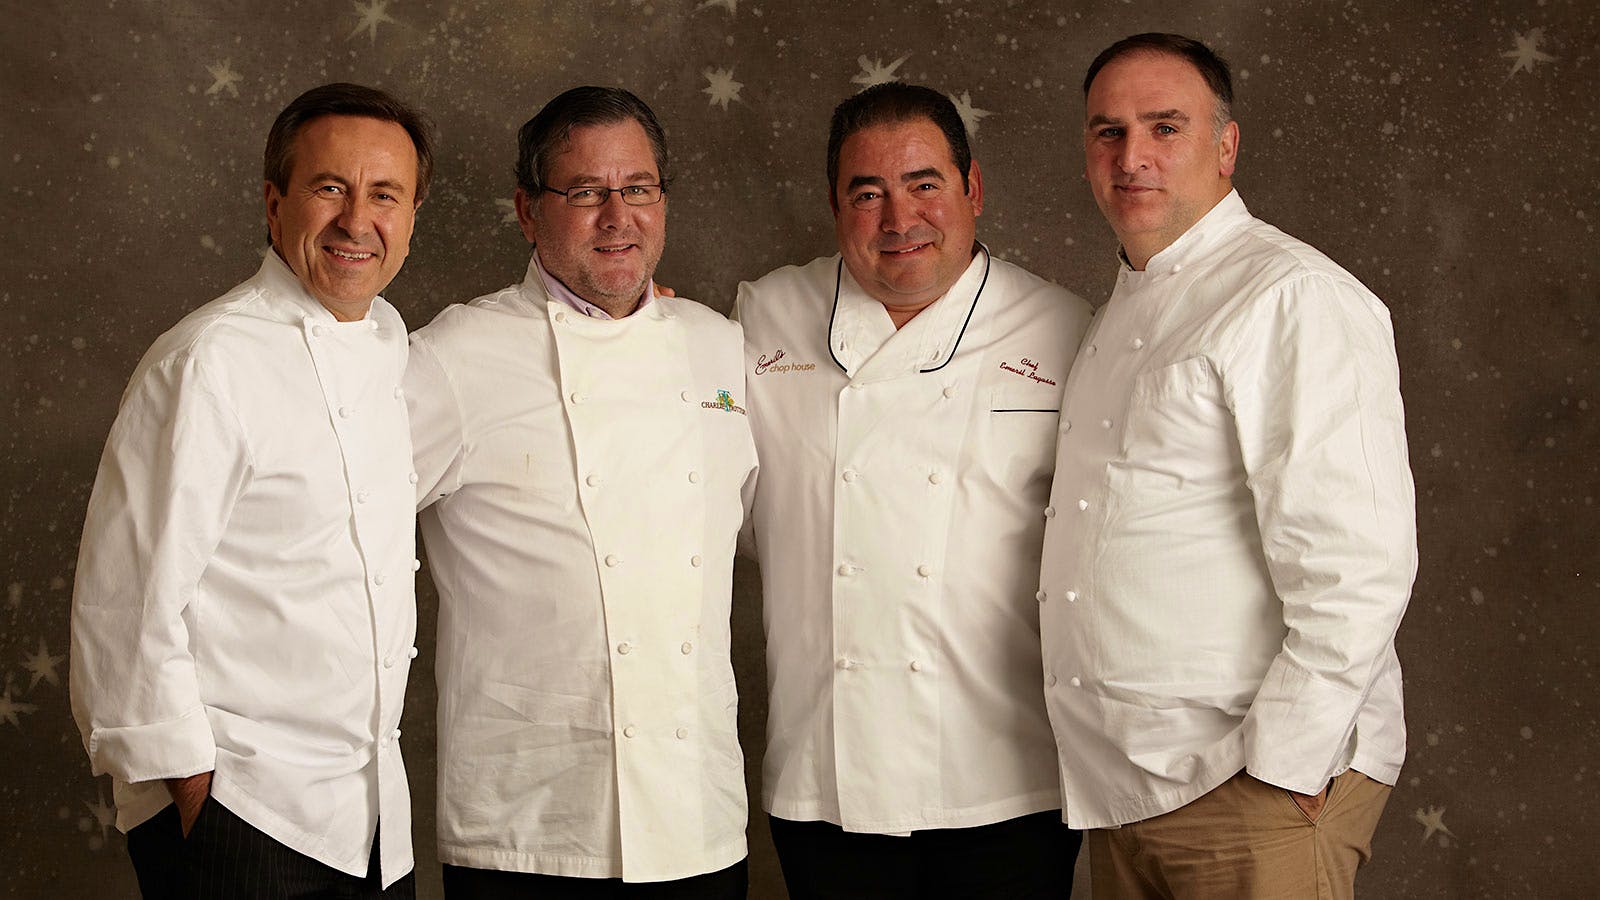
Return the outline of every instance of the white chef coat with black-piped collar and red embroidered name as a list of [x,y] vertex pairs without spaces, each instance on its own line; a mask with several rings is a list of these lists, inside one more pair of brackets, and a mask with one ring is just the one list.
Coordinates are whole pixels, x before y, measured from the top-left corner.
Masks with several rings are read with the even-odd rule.
[[1034,572],[1088,304],[981,251],[899,330],[838,256],[736,312],[768,812],[894,834],[1059,809]]

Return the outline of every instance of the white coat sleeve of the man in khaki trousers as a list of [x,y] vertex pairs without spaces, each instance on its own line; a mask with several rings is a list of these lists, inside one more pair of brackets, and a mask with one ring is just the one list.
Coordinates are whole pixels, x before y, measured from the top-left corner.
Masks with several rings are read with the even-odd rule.
[[1226,364],[1288,634],[1245,716],[1256,778],[1318,793],[1384,666],[1416,577],[1416,496],[1387,311],[1312,275],[1264,298]]

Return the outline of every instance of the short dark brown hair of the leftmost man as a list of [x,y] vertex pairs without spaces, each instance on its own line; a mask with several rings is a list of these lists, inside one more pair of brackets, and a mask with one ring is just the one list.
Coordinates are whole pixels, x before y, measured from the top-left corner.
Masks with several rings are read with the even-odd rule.
[[262,176],[270,181],[280,194],[290,189],[290,173],[294,170],[294,138],[314,119],[323,115],[360,115],[394,122],[405,128],[416,147],[416,202],[427,197],[427,186],[434,179],[434,122],[414,106],[397,99],[378,88],[336,82],[312,88],[294,98],[267,133],[267,151],[262,159]]

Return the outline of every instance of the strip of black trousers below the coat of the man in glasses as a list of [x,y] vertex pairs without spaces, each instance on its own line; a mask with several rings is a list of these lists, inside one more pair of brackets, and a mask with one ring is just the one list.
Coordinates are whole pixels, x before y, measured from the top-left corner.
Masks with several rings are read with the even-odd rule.
[[749,884],[747,860],[677,881],[635,882],[445,866],[448,900],[744,900]]

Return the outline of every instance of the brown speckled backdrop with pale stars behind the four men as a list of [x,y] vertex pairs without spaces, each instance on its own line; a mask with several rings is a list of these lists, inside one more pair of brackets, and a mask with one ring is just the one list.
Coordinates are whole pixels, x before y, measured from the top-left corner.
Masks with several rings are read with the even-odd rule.
[[[1179,30],[1237,67],[1237,184],[1256,215],[1394,312],[1422,567],[1400,629],[1411,751],[1366,897],[1600,892],[1592,0],[99,0],[5,3],[0,35],[0,884],[133,894],[109,785],[66,690],[67,605],[96,458],[139,354],[250,275],[261,144],[328,80],[390,88],[443,136],[414,251],[386,291],[414,327],[522,277],[517,127],[618,83],[667,127],[661,280],[726,309],[741,279],[832,251],[832,106],[872,78],[957,98],[976,131],[979,235],[1096,303],[1115,242],[1080,176],[1083,67]],[[746,751],[762,751],[760,612],[739,573]],[[430,677],[406,754],[424,897]],[[752,826],[752,897],[781,897]]]

